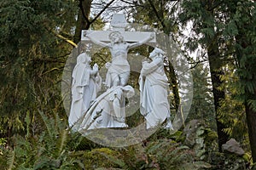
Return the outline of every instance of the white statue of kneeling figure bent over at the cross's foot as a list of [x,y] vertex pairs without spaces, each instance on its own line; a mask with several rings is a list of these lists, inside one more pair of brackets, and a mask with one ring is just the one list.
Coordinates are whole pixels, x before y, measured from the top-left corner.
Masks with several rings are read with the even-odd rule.
[[108,127],[128,127],[125,123],[125,98],[135,94],[134,89],[127,85],[108,88],[101,94],[79,122],[79,132]]

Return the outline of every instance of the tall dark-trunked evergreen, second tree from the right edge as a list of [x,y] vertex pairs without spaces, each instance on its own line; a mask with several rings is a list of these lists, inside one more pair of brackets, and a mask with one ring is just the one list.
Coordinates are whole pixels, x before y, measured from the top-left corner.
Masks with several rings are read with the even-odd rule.
[[[214,98],[217,132],[218,132],[218,150],[222,151],[222,144],[226,143],[229,139],[227,133],[224,133],[224,122],[221,122],[221,117],[218,114],[220,102],[224,99],[224,90],[220,89],[222,84],[221,76],[224,74],[222,66],[224,61],[220,58],[219,51],[219,30],[216,14],[218,14],[218,1],[183,1],[183,13],[180,14],[182,23],[192,21],[192,31],[195,31],[194,41],[199,42],[201,47],[207,51],[209,59],[209,67],[212,77],[212,94]],[[185,25],[187,26],[187,25]],[[217,27],[217,30],[216,30]],[[193,40],[193,39],[191,39]],[[189,42],[191,47],[196,42]]]

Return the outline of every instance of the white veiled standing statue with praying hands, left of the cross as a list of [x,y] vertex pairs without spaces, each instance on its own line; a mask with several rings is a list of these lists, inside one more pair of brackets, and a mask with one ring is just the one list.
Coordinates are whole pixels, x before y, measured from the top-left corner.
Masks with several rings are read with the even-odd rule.
[[73,69],[72,103],[68,116],[69,126],[73,127],[73,130],[75,123],[88,110],[101,88],[102,78],[98,73],[98,65],[95,64],[91,69],[90,62],[90,56],[85,53],[79,54]]

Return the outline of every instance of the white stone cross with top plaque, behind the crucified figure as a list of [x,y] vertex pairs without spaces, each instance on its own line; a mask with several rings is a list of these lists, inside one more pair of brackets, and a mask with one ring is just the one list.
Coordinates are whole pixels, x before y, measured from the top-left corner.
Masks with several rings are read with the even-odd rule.
[[[124,14],[113,14],[113,18],[111,20],[110,26],[113,27],[111,31],[120,31],[122,32],[122,36],[125,38],[126,42],[139,42],[140,40],[149,37],[152,32],[149,31],[125,31],[125,26],[127,26],[127,22],[125,20]],[[110,31],[87,31],[83,30],[81,35],[82,42],[90,42],[90,39],[86,37],[87,34],[90,34],[98,41],[101,42],[110,42],[108,38],[108,34]],[[155,36],[149,43],[155,43]]]

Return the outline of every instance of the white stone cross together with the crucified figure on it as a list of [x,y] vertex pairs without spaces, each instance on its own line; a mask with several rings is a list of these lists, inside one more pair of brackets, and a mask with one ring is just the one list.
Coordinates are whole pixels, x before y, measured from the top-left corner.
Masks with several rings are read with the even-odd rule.
[[154,32],[125,31],[127,22],[124,14],[114,14],[111,21],[111,31],[83,31],[82,42],[94,42],[109,48],[112,62],[106,67],[108,73],[106,85],[108,88],[125,86],[130,75],[130,65],[127,61],[128,50],[143,43],[155,43]]

